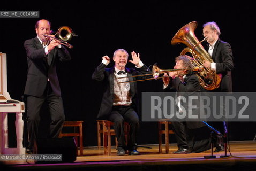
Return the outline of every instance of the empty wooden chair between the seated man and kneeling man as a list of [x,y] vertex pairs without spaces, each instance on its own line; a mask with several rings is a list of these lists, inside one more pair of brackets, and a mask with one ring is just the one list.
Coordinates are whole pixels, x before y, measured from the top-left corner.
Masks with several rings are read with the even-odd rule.
[[[164,129],[162,129],[162,125],[164,125]],[[169,125],[171,122],[167,120],[158,122],[159,153],[162,153],[162,134],[165,135],[165,153],[169,153],[169,134],[174,134],[174,131],[169,129]]]

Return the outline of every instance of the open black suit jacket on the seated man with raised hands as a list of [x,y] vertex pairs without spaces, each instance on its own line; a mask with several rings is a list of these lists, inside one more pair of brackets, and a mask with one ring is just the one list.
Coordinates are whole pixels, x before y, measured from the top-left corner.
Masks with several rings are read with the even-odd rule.
[[[143,65],[141,68],[125,68],[127,72],[127,76],[132,75],[141,75],[141,74],[149,74],[150,71],[147,71],[147,67]],[[97,82],[103,83],[103,97],[101,101],[100,111],[97,115],[98,119],[107,119],[110,114],[113,106],[114,100],[114,72],[115,68],[106,68],[106,65],[101,63],[92,74],[92,79]],[[135,79],[146,79],[150,76],[139,76],[139,77],[130,77],[129,81],[133,81]],[[132,105],[138,107],[138,95],[137,95],[137,83],[130,82],[130,92],[132,96]]]

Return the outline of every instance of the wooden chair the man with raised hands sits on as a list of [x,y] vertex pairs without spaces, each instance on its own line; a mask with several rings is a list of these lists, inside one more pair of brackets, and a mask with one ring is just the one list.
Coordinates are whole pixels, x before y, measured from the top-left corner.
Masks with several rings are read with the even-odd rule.
[[[110,122],[108,120],[97,120],[97,135],[98,135],[98,147],[101,147],[101,133],[103,137],[103,149],[104,154],[111,155],[111,135],[116,135],[114,128],[112,126],[114,125],[113,122]],[[128,138],[129,138],[129,130],[130,125],[127,122],[124,122],[124,134],[125,134],[125,142],[127,145]],[[117,138],[115,137],[116,142],[116,148],[118,145]]]

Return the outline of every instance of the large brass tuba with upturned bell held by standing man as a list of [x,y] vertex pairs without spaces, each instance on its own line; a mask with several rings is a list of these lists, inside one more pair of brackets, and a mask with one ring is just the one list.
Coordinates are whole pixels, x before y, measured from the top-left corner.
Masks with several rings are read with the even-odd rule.
[[[205,41],[206,38],[199,42],[197,37],[195,37],[195,28],[197,28],[196,21],[190,22],[189,24],[183,26],[174,35],[171,40],[171,44],[185,44],[187,47],[180,52],[180,55],[185,55],[188,52],[191,53],[193,56],[193,58],[190,59],[192,65],[194,67],[202,68],[204,67],[204,60],[213,63],[213,59],[201,45],[201,42]],[[200,85],[206,90],[214,90],[220,87],[222,76],[221,74],[216,74],[216,71],[212,71],[211,69],[204,67],[201,72],[197,73],[197,76],[199,78]]]

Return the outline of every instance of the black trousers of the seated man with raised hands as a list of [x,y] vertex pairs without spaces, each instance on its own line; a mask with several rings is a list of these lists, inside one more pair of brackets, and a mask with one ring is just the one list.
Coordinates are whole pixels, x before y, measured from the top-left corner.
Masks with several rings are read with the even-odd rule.
[[[108,116],[108,120],[114,122],[114,129],[116,132],[116,137],[118,141],[117,149],[124,150],[135,150],[136,145],[136,137],[139,131],[139,116],[134,111],[133,106],[113,106],[110,115]],[[125,144],[125,136],[124,136],[124,121],[128,122],[130,125],[129,132],[129,141],[126,146]]]

